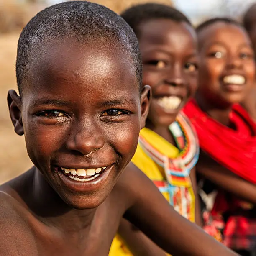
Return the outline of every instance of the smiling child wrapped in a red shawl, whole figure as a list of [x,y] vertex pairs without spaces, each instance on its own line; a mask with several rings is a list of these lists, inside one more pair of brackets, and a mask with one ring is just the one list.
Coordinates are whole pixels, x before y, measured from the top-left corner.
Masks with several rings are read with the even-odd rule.
[[[195,100],[184,108],[200,141],[197,171],[231,192],[223,194],[220,189],[212,214],[218,227],[220,217],[224,220],[225,245],[247,255],[256,245],[255,210],[238,198],[251,200],[251,189],[255,203],[256,125],[237,103],[254,83],[253,49],[243,27],[228,18],[207,20],[197,28],[197,35],[199,88]],[[223,179],[228,173],[230,179]]]

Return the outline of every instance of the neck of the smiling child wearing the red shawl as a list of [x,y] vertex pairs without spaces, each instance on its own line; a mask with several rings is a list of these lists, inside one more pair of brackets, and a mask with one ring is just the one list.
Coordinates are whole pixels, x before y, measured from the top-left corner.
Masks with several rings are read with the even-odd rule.
[[219,108],[218,106],[213,105],[209,100],[205,99],[205,97],[201,96],[199,92],[196,93],[195,100],[201,110],[207,113],[211,118],[225,126],[230,125],[232,105],[226,105],[225,107]]

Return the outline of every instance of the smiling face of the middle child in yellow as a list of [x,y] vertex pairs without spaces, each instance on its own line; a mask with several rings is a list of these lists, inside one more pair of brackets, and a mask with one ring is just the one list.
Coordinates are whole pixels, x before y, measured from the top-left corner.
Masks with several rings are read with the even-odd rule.
[[143,84],[152,89],[148,121],[168,126],[197,88],[197,41],[186,23],[168,19],[140,25]]

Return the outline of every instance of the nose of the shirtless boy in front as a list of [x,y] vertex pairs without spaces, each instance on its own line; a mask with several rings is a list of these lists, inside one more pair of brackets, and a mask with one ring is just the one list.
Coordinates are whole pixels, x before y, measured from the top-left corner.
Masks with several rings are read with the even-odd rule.
[[69,134],[67,139],[67,148],[70,151],[77,151],[86,156],[104,146],[104,135],[100,128],[92,125],[81,125]]

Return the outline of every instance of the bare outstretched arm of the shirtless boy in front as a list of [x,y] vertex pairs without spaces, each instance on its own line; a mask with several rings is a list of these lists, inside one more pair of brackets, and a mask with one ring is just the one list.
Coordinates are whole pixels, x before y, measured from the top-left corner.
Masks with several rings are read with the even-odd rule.
[[133,164],[128,165],[120,182],[131,199],[124,217],[166,252],[184,256],[237,255],[179,215]]

